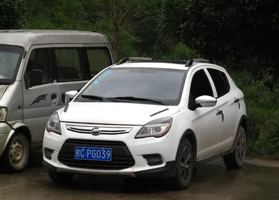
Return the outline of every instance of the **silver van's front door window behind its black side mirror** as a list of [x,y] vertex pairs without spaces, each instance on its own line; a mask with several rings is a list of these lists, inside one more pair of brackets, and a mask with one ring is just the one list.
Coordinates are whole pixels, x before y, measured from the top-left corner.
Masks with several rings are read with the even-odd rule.
[[52,82],[52,65],[50,61],[50,53],[48,49],[33,49],[27,63],[27,70],[24,78],[28,87],[34,86],[30,84],[31,70],[40,70],[42,72],[42,80],[36,85],[49,84]]

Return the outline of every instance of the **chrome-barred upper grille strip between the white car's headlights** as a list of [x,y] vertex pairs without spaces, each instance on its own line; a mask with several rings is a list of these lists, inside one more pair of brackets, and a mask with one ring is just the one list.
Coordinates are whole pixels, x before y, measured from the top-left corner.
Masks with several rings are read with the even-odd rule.
[[93,128],[99,128],[101,130],[100,134],[126,134],[129,133],[133,128],[124,127],[105,127],[105,126],[85,126],[85,125],[66,125],[67,130],[72,132],[78,132],[82,134],[91,134]]

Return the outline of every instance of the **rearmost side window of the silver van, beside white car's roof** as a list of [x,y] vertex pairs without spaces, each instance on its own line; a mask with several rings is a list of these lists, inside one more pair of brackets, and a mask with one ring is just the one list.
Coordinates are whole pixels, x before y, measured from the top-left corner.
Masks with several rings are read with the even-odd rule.
[[89,61],[89,68],[91,77],[95,76],[108,66],[112,65],[110,52],[107,48],[102,49],[86,49],[87,59]]

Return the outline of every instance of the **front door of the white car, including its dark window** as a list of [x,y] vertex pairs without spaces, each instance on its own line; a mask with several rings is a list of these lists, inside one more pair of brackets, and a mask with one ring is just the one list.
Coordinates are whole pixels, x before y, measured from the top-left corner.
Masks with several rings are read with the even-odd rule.
[[[216,91],[206,75],[204,69],[193,72],[191,81],[189,105],[202,95],[214,97]],[[193,121],[197,135],[197,160],[220,153],[222,119],[218,109],[214,107],[198,107],[193,110]]]

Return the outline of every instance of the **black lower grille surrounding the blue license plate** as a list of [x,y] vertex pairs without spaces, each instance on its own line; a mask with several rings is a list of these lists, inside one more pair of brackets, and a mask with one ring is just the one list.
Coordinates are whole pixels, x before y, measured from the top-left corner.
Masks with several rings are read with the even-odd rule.
[[[75,146],[112,148],[112,161],[75,160]],[[68,167],[86,169],[120,170],[135,165],[128,147],[121,141],[68,139],[61,148],[58,160]]]

